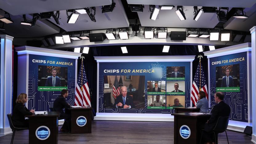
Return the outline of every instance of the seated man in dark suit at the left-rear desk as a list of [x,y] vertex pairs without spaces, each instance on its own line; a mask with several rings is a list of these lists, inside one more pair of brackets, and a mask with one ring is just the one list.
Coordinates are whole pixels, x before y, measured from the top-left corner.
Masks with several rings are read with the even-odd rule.
[[53,108],[55,111],[60,112],[60,117],[62,118],[67,118],[66,121],[64,122],[62,128],[60,129],[63,132],[68,132],[70,131],[69,128],[71,126],[71,114],[64,113],[63,108],[68,109],[70,108],[70,105],[66,102],[66,98],[68,97],[68,90],[63,89],[61,91],[61,95],[58,96],[53,102]]

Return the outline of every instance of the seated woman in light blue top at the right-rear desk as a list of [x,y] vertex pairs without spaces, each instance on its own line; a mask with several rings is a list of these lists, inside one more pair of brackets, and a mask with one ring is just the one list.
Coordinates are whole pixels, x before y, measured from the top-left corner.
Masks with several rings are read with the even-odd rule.
[[198,96],[198,101],[196,103],[196,107],[199,109],[201,113],[206,113],[207,110],[209,109],[209,104],[208,100],[206,99],[206,94],[204,91],[199,91]]

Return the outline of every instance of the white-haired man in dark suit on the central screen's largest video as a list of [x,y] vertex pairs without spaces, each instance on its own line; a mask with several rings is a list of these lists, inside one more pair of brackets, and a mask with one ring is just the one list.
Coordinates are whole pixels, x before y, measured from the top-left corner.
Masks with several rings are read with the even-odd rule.
[[135,105],[133,103],[133,99],[130,95],[127,95],[127,87],[123,86],[121,88],[121,95],[119,95],[115,103],[113,105],[114,108],[124,108],[124,109],[130,109],[130,108],[135,108]]

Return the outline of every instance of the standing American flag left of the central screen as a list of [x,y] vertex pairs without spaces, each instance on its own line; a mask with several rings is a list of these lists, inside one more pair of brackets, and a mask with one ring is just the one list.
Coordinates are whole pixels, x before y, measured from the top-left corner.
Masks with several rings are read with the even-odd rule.
[[83,65],[83,59],[80,66],[77,84],[76,84],[76,91],[75,91],[75,106],[91,106],[90,102],[90,93],[88,82],[85,74],[85,68]]

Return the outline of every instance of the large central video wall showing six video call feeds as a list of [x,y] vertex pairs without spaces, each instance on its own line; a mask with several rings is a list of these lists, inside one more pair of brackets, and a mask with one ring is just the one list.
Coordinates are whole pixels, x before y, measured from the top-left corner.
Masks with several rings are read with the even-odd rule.
[[99,63],[101,113],[170,114],[175,98],[190,106],[190,62]]

